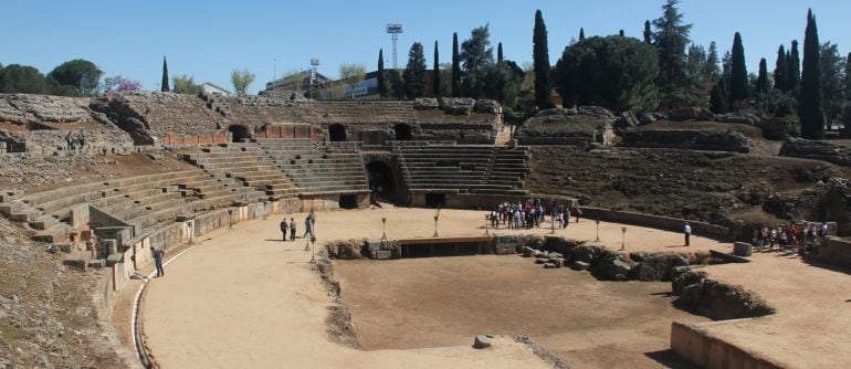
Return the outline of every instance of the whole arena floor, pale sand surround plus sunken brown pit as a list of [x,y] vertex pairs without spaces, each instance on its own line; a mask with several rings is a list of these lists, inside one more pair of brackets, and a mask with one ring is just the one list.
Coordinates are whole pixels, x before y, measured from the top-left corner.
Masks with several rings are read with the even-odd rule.
[[[292,217],[303,226],[305,215]],[[431,236],[433,215],[403,208],[322,212],[317,244],[378,239],[382,217],[389,238]],[[659,367],[676,360],[664,352],[672,320],[706,320],[672,308],[668,283],[601,283],[515,255],[340,261],[335,275],[365,347],[355,350],[326,333],[333,299],[308,263],[305,241],[280,241],[281,218],[208,235],[149,284],[141,323],[161,367],[547,367],[511,340],[472,349],[477,334],[530,335],[570,367]],[[601,244],[619,249],[621,226],[601,223]],[[628,250],[685,250],[679,233],[627,226]],[[484,212],[442,210],[439,232],[484,234]],[[595,223],[582,220],[556,233],[593,240],[595,232]],[[700,236],[692,245],[728,249]]]

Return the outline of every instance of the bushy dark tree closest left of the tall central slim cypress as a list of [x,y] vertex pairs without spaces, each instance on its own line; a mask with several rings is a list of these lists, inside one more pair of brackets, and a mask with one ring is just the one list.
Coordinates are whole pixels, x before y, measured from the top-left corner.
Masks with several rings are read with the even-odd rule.
[[473,29],[470,40],[461,43],[461,63],[464,66],[462,81],[464,95],[473,98],[483,97],[486,77],[494,64],[487,24]]

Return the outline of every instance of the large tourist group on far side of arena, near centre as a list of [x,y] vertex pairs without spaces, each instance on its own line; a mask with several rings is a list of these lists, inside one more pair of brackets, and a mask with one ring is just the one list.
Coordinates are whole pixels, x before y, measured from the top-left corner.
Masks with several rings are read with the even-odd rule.
[[[554,214],[550,218],[555,218],[550,219],[550,221],[554,223],[553,226],[555,226],[555,223],[558,223],[559,229],[568,228],[571,214],[576,217],[577,223],[582,215],[581,209],[574,208],[571,211],[570,207],[563,203],[554,205],[553,212]],[[540,199],[527,200],[526,202],[517,201],[517,203],[506,201],[491,210],[488,220],[493,229],[500,229],[500,224],[503,224],[503,226],[508,229],[530,230],[544,224],[547,209],[544,208]]]

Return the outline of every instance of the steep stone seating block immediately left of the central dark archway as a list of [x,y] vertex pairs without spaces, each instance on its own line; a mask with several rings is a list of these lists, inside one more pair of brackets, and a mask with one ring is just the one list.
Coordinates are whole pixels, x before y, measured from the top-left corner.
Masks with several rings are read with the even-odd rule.
[[296,184],[302,196],[369,192],[369,179],[356,143],[277,138],[255,138],[254,141]]

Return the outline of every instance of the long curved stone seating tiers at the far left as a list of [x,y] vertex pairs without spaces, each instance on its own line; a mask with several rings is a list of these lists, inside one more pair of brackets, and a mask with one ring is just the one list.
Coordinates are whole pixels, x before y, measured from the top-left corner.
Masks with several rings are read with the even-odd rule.
[[55,190],[0,197],[0,213],[27,223],[33,239],[61,242],[75,232],[71,215],[78,205],[92,205],[139,230],[175,221],[178,215],[256,202],[265,193],[203,170],[127,177]]

